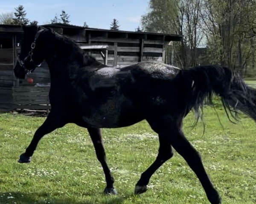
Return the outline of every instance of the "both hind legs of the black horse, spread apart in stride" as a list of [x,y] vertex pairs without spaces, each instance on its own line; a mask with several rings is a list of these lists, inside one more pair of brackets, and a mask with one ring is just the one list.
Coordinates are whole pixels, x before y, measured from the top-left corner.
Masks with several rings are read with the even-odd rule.
[[[143,193],[152,174],[159,168],[164,161],[172,157],[173,147],[189,164],[189,167],[195,172],[201,182],[208,200],[211,204],[221,204],[221,197],[217,190],[213,187],[212,182],[207,175],[201,156],[194,147],[185,138],[182,132],[182,119],[174,119],[172,117],[154,118],[148,120],[151,128],[158,133],[160,139],[160,148],[156,161],[142,174],[137,184],[139,187],[135,193]],[[161,146],[161,144],[163,144]]]

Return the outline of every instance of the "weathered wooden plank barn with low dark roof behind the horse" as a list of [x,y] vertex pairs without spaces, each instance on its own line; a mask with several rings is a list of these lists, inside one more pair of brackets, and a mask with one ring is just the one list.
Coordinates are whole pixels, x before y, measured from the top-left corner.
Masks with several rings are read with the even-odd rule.
[[[111,31],[61,23],[43,26],[69,37],[102,63],[115,67],[141,61],[165,62],[166,45],[182,40],[180,35]],[[50,109],[50,78],[45,62],[29,75],[32,84],[26,79],[16,79],[13,74],[22,34],[20,26],[0,25],[0,110]]]

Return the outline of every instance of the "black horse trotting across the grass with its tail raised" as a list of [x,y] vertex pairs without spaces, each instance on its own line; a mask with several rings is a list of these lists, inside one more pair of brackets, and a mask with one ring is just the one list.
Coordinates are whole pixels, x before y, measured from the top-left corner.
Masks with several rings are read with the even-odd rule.
[[24,78],[46,60],[51,76],[52,110],[18,162],[31,161],[44,135],[75,123],[87,128],[93,141],[105,173],[104,192],[115,194],[100,128],[124,127],[146,119],[158,134],[160,147],[156,160],[137,182],[135,193],[147,190],[152,174],[173,156],[173,147],[198,176],[210,203],[221,203],[199,153],[183,134],[182,121],[191,109],[200,117],[204,100],[211,102],[213,93],[221,97],[228,116],[236,117],[240,110],[256,120],[256,90],[247,87],[238,74],[218,65],[180,70],[159,62],[109,68],[49,29],[28,26],[23,30],[15,76]]

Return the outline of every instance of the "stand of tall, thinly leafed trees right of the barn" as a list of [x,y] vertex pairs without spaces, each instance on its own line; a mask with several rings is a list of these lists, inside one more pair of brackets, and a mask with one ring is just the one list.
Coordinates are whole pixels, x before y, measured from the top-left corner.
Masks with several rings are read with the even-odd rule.
[[183,35],[174,48],[184,66],[198,63],[203,39],[207,63],[256,73],[255,0],[149,0],[149,8],[142,16],[144,30]]

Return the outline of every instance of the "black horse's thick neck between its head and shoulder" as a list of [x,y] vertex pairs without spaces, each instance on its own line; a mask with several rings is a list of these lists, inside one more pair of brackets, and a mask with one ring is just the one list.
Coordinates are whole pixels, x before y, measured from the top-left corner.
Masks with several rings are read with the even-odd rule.
[[[94,58],[84,54],[74,42],[64,39],[56,34],[49,37],[50,43],[47,48],[50,52],[46,58],[49,67],[51,82],[76,83],[81,75],[83,78],[90,76],[91,70],[87,67],[97,67]],[[101,63],[100,63],[101,64]],[[86,82],[86,80],[84,81]]]

